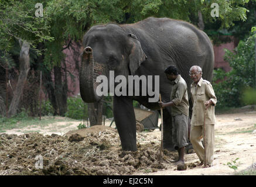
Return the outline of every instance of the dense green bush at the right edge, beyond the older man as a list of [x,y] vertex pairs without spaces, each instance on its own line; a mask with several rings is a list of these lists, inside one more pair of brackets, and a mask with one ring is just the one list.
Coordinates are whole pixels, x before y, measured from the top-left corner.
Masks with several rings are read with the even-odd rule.
[[255,40],[249,37],[241,40],[234,51],[226,50],[225,60],[230,63],[232,70],[214,70],[213,88],[218,99],[216,109],[255,103],[255,95],[251,91],[255,86],[254,47]]

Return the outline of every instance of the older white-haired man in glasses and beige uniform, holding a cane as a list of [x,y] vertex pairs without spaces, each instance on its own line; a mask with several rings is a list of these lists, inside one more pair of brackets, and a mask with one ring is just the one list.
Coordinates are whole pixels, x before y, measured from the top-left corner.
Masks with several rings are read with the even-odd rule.
[[[209,81],[202,78],[202,69],[194,65],[189,71],[190,78],[193,80],[191,85],[191,94],[193,102],[193,112],[190,127],[190,141],[196,151],[200,165],[204,162],[204,147],[201,141],[203,136],[203,124],[205,120],[206,124],[206,164],[210,167],[213,162],[213,148],[214,148],[214,123],[215,114],[214,106],[216,105],[217,99],[213,90],[213,86]],[[206,111],[207,109],[207,111]],[[206,111],[206,117],[204,119],[204,113]]]

